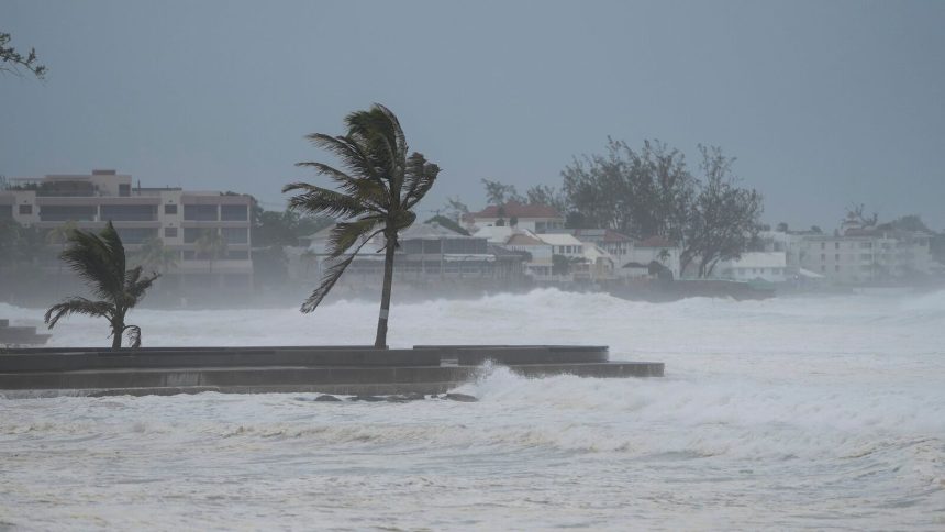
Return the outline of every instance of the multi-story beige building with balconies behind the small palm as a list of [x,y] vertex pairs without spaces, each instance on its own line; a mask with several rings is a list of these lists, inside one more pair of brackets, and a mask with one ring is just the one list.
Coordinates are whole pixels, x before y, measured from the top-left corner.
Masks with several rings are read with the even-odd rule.
[[[111,221],[129,255],[151,239],[160,239],[176,254],[165,273],[166,286],[199,288],[252,286],[249,211],[245,195],[142,188],[115,170],[12,179],[0,190],[0,220],[52,230],[67,222],[98,231]],[[198,241],[204,233],[222,236],[225,246],[212,254]]]

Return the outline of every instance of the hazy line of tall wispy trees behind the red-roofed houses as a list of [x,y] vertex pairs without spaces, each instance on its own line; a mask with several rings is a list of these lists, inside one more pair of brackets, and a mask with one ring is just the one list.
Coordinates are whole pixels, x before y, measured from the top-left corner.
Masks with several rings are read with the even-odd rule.
[[[679,149],[646,141],[634,149],[608,138],[602,154],[575,157],[562,171],[560,187],[536,185],[520,195],[513,185],[483,179],[487,200],[548,204],[570,229],[611,229],[636,239],[664,236],[681,247],[680,266],[710,275],[720,261],[748,250],[763,225],[761,195],[742,187],[734,158],[718,147],[699,146],[690,169]],[[454,198],[447,211],[465,208]]]

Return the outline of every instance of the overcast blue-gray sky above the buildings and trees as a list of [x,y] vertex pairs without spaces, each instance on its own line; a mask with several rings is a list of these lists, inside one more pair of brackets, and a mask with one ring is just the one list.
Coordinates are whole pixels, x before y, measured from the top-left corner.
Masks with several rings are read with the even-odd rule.
[[[608,135],[738,158],[764,219],[845,206],[945,229],[945,2],[19,1],[0,31],[45,82],[0,78],[0,174],[116,168],[249,192],[325,159],[311,132],[378,101],[447,195],[559,185]],[[425,215],[425,214],[424,214]]]

